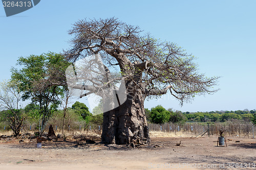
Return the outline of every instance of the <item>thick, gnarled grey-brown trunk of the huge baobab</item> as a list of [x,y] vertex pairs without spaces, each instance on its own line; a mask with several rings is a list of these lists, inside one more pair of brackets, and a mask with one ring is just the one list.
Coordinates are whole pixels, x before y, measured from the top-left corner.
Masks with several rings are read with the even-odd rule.
[[144,111],[144,99],[140,90],[127,95],[118,108],[103,114],[103,143],[149,144],[150,135]]

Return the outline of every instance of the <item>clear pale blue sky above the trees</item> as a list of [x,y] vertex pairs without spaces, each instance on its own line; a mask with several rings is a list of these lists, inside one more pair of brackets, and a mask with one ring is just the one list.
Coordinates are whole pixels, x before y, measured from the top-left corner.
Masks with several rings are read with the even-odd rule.
[[0,81],[10,78],[18,57],[62,52],[68,30],[84,18],[117,17],[155,38],[176,42],[195,55],[199,72],[221,76],[220,91],[196,96],[183,107],[170,95],[145,102],[181,111],[256,109],[256,1],[66,1],[42,0],[6,17],[0,6]]

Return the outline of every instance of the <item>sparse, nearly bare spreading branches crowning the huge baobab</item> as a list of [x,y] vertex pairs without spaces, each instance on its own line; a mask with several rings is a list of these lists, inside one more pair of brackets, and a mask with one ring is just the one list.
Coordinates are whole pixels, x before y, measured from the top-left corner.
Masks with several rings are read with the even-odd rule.
[[218,77],[198,74],[194,56],[176,43],[143,35],[138,26],[117,18],[79,20],[69,33],[74,36],[66,53],[69,61],[100,54],[109,67],[119,66],[126,81],[136,82],[145,97],[169,91],[183,104],[195,94],[217,91],[212,86]]

